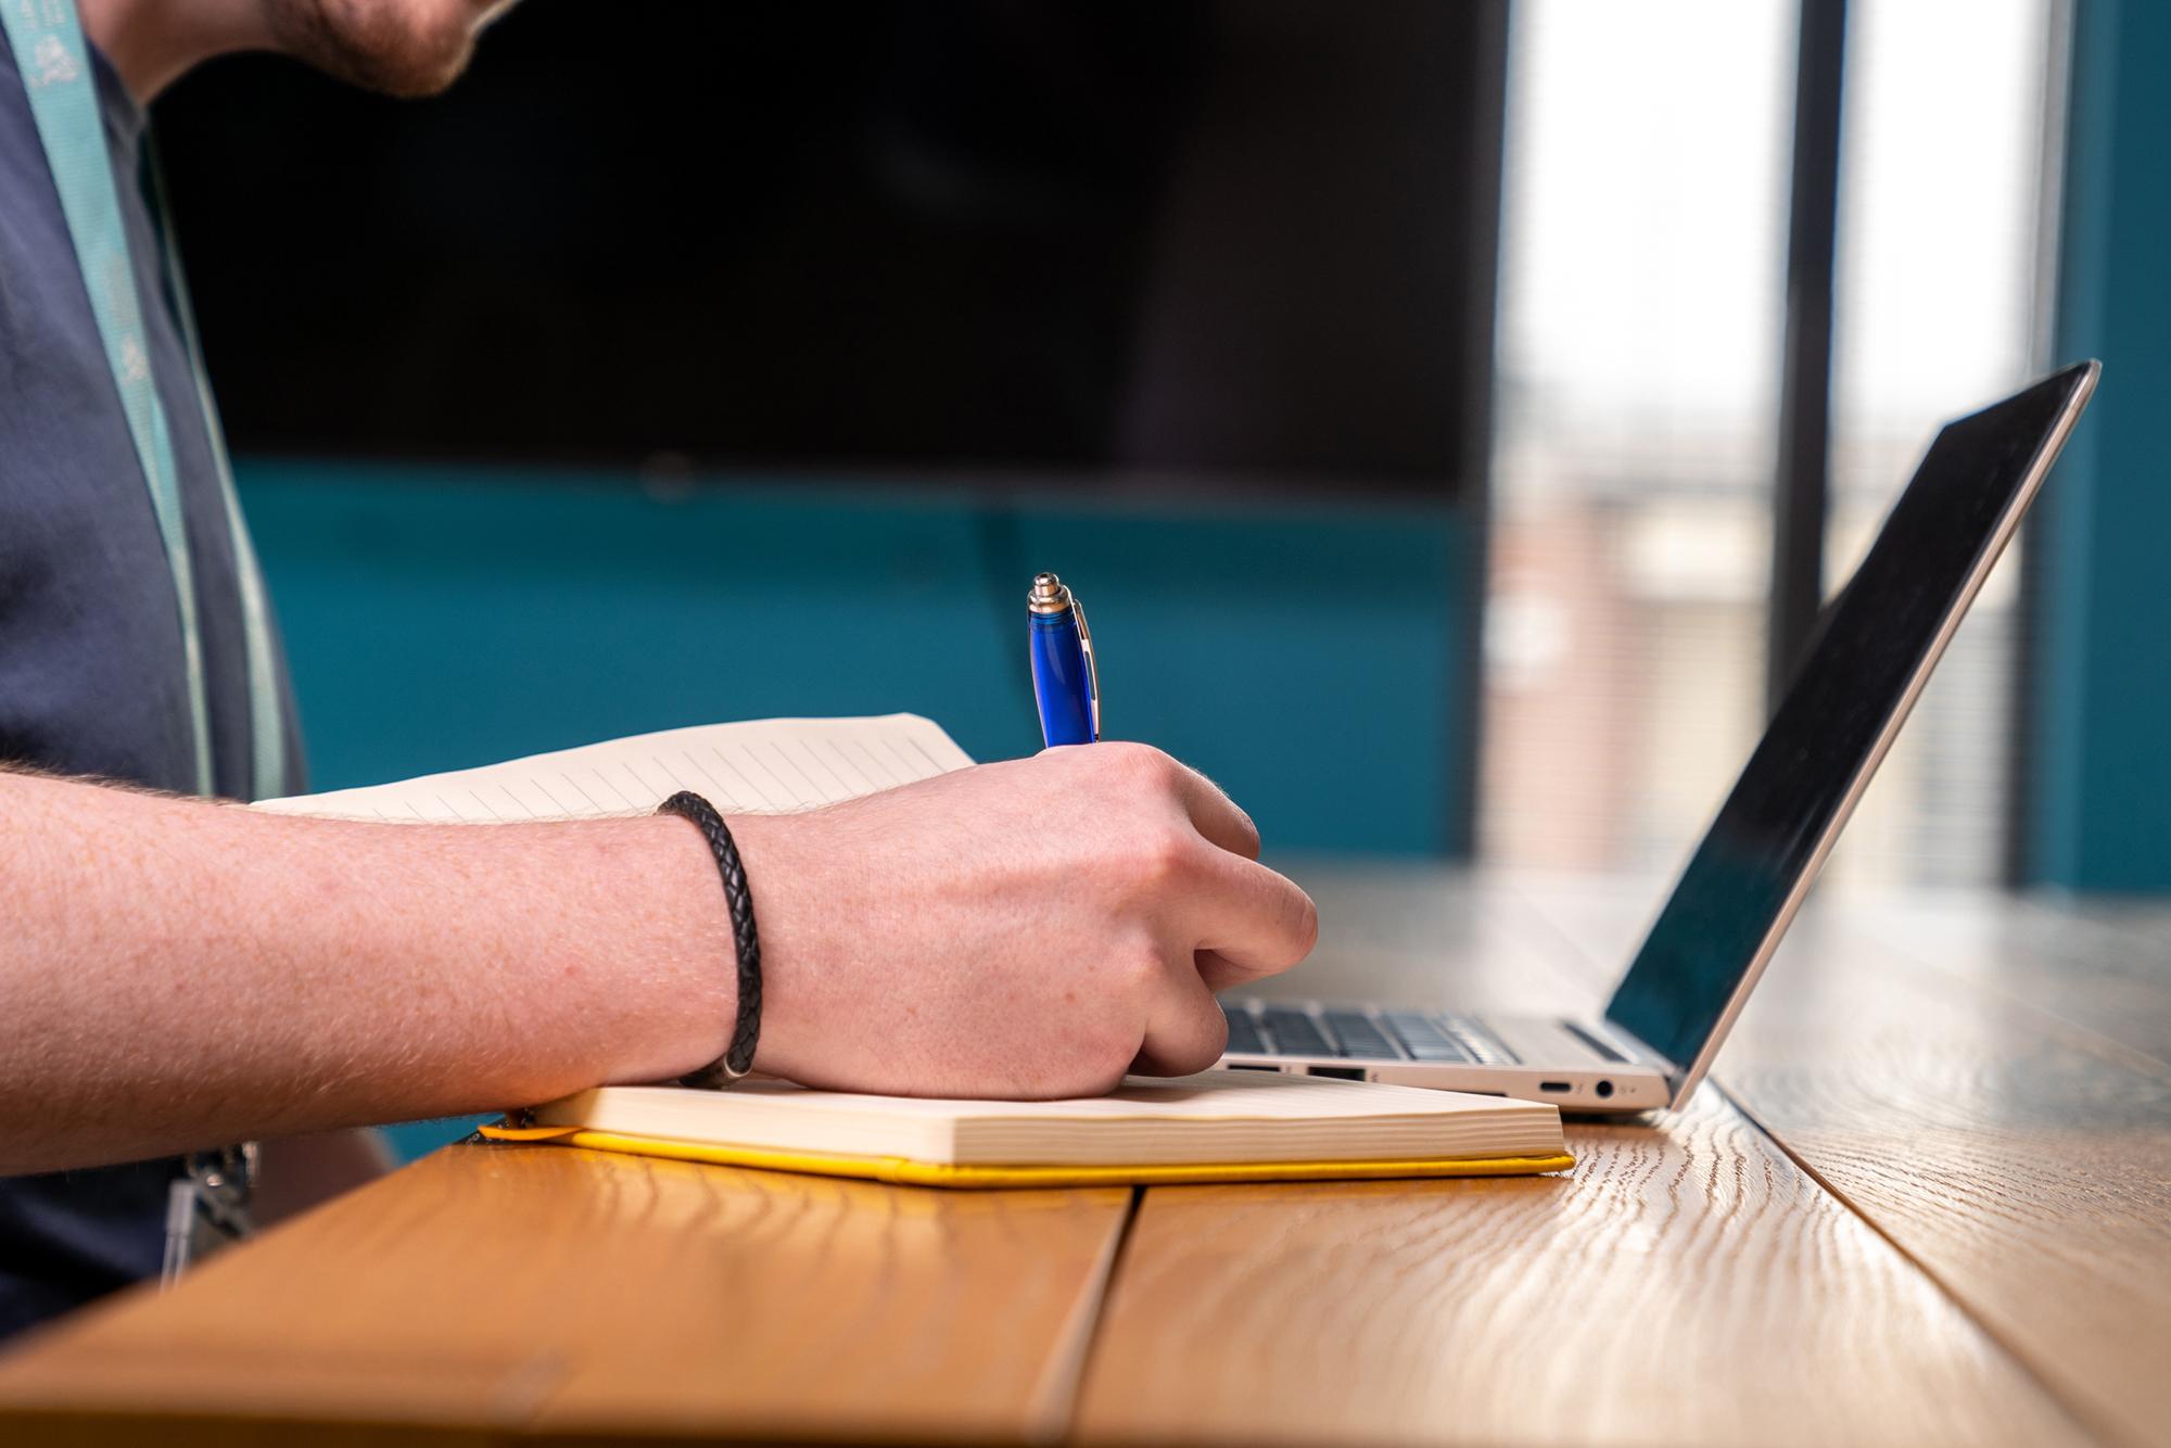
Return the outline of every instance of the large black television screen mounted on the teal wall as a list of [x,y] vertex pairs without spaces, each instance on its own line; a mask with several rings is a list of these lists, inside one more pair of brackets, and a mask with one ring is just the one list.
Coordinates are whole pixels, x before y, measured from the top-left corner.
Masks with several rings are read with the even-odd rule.
[[156,128],[239,449],[1483,475],[1505,4],[528,0]]

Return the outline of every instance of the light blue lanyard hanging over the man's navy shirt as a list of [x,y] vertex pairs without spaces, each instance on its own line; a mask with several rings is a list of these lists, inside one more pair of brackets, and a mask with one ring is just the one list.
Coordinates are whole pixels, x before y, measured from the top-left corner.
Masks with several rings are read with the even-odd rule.
[[[15,50],[15,67],[30,98],[37,137],[46,148],[46,165],[61,193],[61,213],[76,245],[76,265],[91,297],[98,336],[113,369],[113,384],[128,415],[143,484],[150,488],[158,534],[165,538],[165,560],[174,573],[174,604],[180,617],[180,647],[189,673],[189,723],[195,745],[195,792],[213,792],[211,773],[211,706],[204,690],[204,640],[195,619],[195,575],[189,564],[189,525],[180,499],[180,469],[174,465],[174,436],[167,430],[165,406],[152,378],[150,336],[143,330],[143,302],[135,287],[135,265],[128,256],[128,234],[122,228],[119,191],[106,132],[98,115],[98,91],[91,78],[89,52],[74,0],[0,0],[0,26]],[[180,258],[167,243],[167,267],[180,304],[180,328],[189,343],[189,365],[204,406],[204,430],[226,501],[232,534],[234,575],[241,590],[241,621],[247,649],[250,686],[250,786],[265,799],[287,792],[287,727],[280,714],[278,679],[271,662],[271,627],[265,606],[263,575],[256,549],[250,547],[241,504],[234,497],[219,417],[204,382],[202,347],[189,315],[187,289],[180,280]]]

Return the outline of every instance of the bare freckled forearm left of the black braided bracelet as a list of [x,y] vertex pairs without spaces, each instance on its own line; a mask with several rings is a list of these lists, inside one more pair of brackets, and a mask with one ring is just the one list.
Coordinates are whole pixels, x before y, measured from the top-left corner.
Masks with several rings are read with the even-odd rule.
[[660,1079],[723,1049],[673,818],[358,825],[0,775],[0,1172]]

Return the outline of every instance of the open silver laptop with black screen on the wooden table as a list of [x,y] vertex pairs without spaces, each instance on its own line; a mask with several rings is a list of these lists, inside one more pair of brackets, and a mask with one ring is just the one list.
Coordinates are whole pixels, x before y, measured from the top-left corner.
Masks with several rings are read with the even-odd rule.
[[1602,1012],[1563,1020],[1231,999],[1222,1066],[1526,1096],[1570,1112],[1680,1107],[2099,371],[2078,363],[1937,434],[1869,556],[1824,610],[1808,658]]

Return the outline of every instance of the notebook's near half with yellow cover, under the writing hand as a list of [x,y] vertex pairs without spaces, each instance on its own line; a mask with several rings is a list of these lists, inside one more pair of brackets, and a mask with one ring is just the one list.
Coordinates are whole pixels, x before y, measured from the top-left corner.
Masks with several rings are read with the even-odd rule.
[[484,1127],[508,1142],[949,1187],[1500,1177],[1574,1166],[1535,1101],[1209,1070],[1079,1101],[934,1101],[745,1081],[606,1085]]

